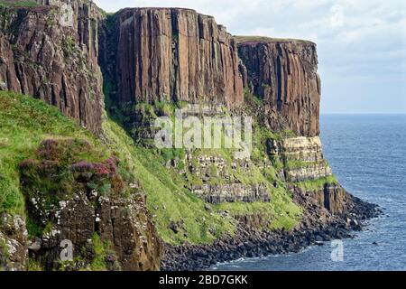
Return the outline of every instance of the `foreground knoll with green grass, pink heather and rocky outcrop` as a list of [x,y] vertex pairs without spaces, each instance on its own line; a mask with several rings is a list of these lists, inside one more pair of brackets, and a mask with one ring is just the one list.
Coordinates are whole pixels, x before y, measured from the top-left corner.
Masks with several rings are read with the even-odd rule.
[[[62,116],[56,107],[11,91],[0,91],[0,140],[0,214],[23,216],[29,238],[68,234],[78,246],[78,254],[74,263],[62,262],[60,266],[83,268],[78,264],[86,265],[90,257],[93,261],[85,268],[101,269],[107,266],[103,262],[108,257],[112,266],[118,260],[126,269],[159,267],[159,240],[154,238],[143,200],[139,200],[142,192],[134,170],[127,162],[120,162],[103,140]],[[76,208],[73,216],[69,216],[69,206]],[[109,220],[115,218],[110,216],[110,207],[122,216],[114,224]],[[77,230],[69,231],[70,226]],[[109,240],[112,229],[122,235]],[[133,243],[125,238],[127,230],[132,230]],[[94,239],[90,247],[83,245],[88,234]],[[143,245],[142,254],[147,256],[135,257],[138,251],[126,256],[130,248],[145,240],[148,245]],[[107,247],[102,250],[100,244],[106,242],[115,242],[117,256],[106,256],[106,249],[112,251]],[[42,250],[53,252],[54,247],[48,246]],[[50,254],[37,256],[33,251],[29,266],[55,268],[49,259],[54,253]],[[134,259],[136,263],[132,263]]]

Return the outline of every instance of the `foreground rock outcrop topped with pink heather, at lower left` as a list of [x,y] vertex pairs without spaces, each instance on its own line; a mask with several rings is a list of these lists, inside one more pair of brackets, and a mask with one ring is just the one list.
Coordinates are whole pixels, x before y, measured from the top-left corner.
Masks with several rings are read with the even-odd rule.
[[[89,154],[91,147],[77,140],[47,140],[39,159],[20,166],[29,217],[42,228],[30,247],[32,257],[48,270],[88,268],[95,258],[108,270],[158,270],[161,240],[143,195],[115,172],[113,157],[105,163],[66,163],[69,152]],[[68,264],[60,259],[64,240],[73,246]]]

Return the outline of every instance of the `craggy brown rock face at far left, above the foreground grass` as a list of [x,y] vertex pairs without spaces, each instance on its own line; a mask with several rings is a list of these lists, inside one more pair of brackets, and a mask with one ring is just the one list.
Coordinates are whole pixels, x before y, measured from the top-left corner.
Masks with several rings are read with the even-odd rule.
[[43,5],[0,8],[0,83],[98,132],[104,106],[98,8],[79,0],[37,2]]

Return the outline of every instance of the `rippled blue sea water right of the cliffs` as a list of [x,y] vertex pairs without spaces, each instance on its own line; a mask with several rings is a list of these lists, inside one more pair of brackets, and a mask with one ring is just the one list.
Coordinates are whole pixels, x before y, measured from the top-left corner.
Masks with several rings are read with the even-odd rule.
[[[406,115],[324,115],[324,154],[347,191],[383,208],[356,238],[343,240],[342,258],[326,242],[300,253],[219,264],[213,270],[406,270]],[[374,244],[376,243],[376,244]]]

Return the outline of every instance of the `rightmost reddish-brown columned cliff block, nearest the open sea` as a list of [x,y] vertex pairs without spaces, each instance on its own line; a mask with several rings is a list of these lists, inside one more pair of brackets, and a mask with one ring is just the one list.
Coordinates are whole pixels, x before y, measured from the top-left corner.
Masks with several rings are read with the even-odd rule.
[[316,44],[237,37],[245,85],[263,98],[268,125],[301,136],[319,135],[320,79]]

